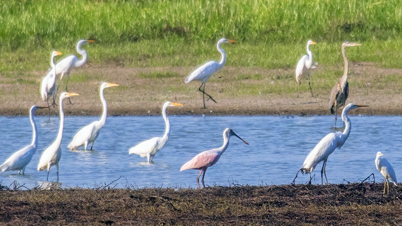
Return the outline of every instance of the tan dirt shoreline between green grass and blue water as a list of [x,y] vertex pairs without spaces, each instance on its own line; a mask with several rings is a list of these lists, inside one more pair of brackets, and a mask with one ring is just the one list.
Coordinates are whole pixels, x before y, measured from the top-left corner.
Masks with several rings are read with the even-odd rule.
[[[347,103],[370,105],[354,110],[351,114],[361,115],[402,115],[402,86],[388,82],[387,77],[402,76],[402,69],[378,68],[371,63],[356,63],[350,66],[350,94]],[[293,81],[293,69],[261,69],[225,67],[219,75],[208,83],[208,92],[218,101],[207,101],[202,108],[202,94],[197,90],[200,82],[184,83],[190,67],[126,68],[111,65],[86,65],[71,73],[69,90],[80,96],[74,97],[74,104],[64,104],[66,115],[96,116],[102,112],[98,97],[100,81],[119,83],[121,86],[105,91],[109,116],[160,115],[164,101],[183,103],[183,107],[168,110],[170,115],[329,115],[329,94],[332,87],[315,89],[312,97],[302,83],[300,98],[297,98],[297,85]],[[318,69],[320,70],[320,68]],[[321,69],[322,70],[322,69]],[[161,78],[155,78],[155,74]],[[163,77],[164,73],[168,73]],[[339,72],[341,73],[341,72]],[[39,85],[44,72],[15,72],[0,74],[0,115],[26,116],[30,106],[46,105],[39,94]],[[259,80],[235,80],[234,74],[264,75]],[[281,74],[284,81],[275,80]],[[148,76],[150,76],[148,78]],[[378,77],[381,76],[381,79]],[[273,78],[272,78],[273,77]],[[314,80],[313,80],[314,81]],[[280,83],[282,82],[282,83]],[[268,93],[238,94],[241,85],[261,85]],[[285,84],[293,88],[292,93],[269,93],[269,83]],[[331,81],[332,83],[332,81]],[[334,81],[335,83],[335,81]],[[65,83],[62,81],[61,87]],[[314,85],[314,82],[313,82]],[[247,89],[247,88],[244,88]],[[52,115],[56,113],[52,109]],[[37,115],[47,115],[47,110],[38,110]]]

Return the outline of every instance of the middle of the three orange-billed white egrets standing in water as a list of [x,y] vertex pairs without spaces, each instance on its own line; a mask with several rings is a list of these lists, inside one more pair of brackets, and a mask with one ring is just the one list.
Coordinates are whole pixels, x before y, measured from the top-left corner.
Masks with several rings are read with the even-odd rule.
[[79,130],[78,133],[75,134],[71,143],[68,145],[68,149],[76,150],[77,148],[84,146],[84,149],[86,151],[88,144],[92,144],[91,145],[91,150],[92,150],[93,143],[95,142],[97,136],[99,135],[100,129],[102,129],[102,127],[105,126],[106,117],[108,116],[108,104],[106,103],[106,99],[104,96],[104,90],[106,88],[115,87],[115,86],[119,86],[119,85],[114,84],[114,83],[108,83],[108,82],[104,82],[104,83],[102,83],[102,85],[100,85],[99,96],[100,96],[100,101],[102,101],[102,105],[104,108],[103,114],[98,121],[95,121],[95,122],[83,127],[81,130]]

